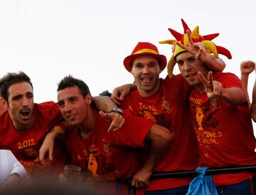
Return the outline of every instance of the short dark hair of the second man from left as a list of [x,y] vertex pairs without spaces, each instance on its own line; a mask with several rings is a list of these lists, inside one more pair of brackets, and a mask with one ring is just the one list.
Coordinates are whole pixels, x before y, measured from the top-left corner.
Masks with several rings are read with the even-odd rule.
[[87,86],[87,84],[85,84],[85,82],[83,82],[81,79],[75,79],[71,75],[68,75],[60,80],[60,82],[58,83],[57,91],[63,90],[67,87],[75,86],[77,86],[80,89],[80,93],[83,97],[90,93],[90,89]]

